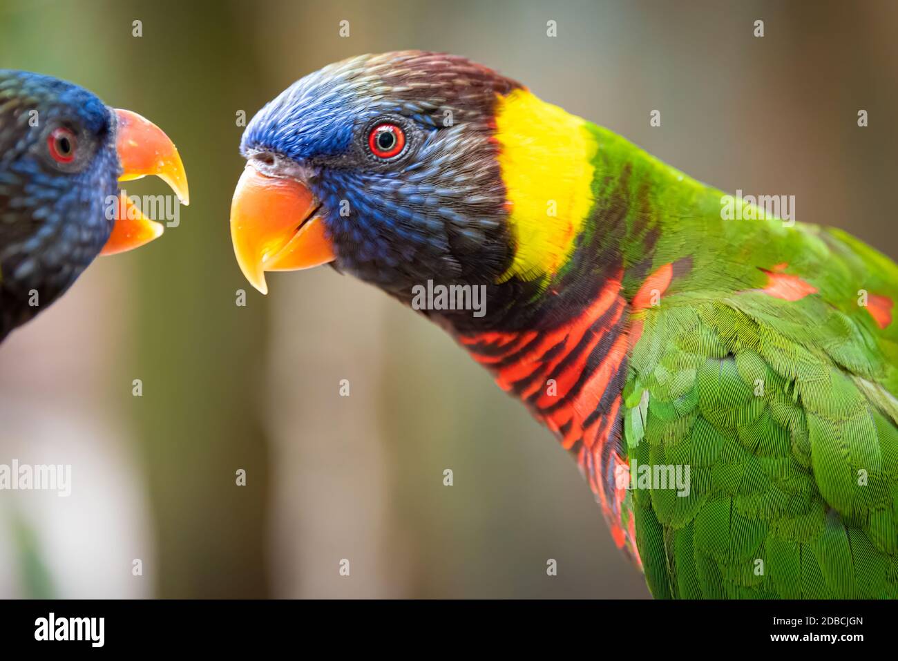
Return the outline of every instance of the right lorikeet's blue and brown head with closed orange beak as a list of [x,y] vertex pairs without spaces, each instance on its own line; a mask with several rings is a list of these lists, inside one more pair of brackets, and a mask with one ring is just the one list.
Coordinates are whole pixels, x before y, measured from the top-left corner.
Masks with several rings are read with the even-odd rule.
[[[492,284],[514,260],[495,137],[521,85],[462,57],[354,57],[251,120],[232,236],[243,273],[334,266],[384,290]],[[539,130],[539,127],[533,127]]]

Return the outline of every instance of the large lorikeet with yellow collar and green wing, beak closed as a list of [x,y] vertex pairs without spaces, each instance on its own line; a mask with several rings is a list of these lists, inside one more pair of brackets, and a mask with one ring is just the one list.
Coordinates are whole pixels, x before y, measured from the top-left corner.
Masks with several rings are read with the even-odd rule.
[[743,200],[727,219],[720,190],[462,57],[326,66],[241,149],[251,284],[330,262],[425,308],[576,457],[653,595],[898,596],[891,260]]

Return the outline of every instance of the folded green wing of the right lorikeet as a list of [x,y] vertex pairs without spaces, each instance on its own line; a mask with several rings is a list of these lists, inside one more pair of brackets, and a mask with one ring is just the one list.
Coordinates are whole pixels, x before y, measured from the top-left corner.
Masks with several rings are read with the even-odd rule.
[[633,492],[653,594],[898,596],[896,402],[870,374],[888,369],[846,315],[802,303],[674,294],[645,312],[629,459],[691,470],[688,496]]

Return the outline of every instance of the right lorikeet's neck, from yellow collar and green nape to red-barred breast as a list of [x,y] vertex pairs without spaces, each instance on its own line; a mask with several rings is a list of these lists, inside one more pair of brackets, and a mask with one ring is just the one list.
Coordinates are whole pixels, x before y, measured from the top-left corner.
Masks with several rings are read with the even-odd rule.
[[539,139],[533,123],[497,120],[515,260],[489,286],[482,319],[441,320],[576,455],[623,545],[632,522],[621,518],[615,475],[627,470],[620,413],[638,311],[691,268],[694,246],[672,250],[664,239],[676,233],[668,218],[713,214],[718,198],[610,131],[539,110],[565,135],[551,135],[538,159],[521,146]]

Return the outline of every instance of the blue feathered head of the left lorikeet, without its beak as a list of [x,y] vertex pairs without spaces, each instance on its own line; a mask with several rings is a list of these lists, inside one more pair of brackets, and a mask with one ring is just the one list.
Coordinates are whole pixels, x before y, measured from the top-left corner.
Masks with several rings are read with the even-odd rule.
[[[0,336],[65,292],[109,238],[115,122],[82,87],[0,70]],[[34,293],[38,306],[25,303]]]

